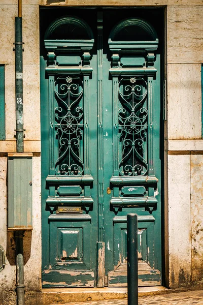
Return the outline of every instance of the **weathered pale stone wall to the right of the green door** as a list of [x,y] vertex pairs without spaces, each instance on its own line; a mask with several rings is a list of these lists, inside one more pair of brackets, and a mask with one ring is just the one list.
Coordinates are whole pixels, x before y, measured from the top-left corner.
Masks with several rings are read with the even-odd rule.
[[197,285],[202,278],[202,18],[203,6],[188,3],[167,7],[168,252],[172,288]]

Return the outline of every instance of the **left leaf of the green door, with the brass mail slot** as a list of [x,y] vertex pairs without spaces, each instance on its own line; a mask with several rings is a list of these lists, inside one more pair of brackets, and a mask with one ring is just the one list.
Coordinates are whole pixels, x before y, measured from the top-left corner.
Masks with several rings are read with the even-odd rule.
[[82,19],[67,16],[53,21],[43,39],[48,60],[41,56],[42,285],[93,287],[98,222],[96,115],[90,120],[90,106],[96,112],[93,33]]

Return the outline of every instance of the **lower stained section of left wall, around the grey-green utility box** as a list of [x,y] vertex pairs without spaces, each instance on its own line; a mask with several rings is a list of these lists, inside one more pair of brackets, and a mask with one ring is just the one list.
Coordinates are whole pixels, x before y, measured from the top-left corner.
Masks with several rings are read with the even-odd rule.
[[[32,232],[24,237],[24,278],[26,290],[41,288],[41,158],[33,157],[32,163]],[[7,157],[0,157],[0,244],[7,252],[5,269],[0,273],[0,304],[4,298],[4,305],[13,304],[16,293],[15,273],[15,239],[13,233],[7,232]],[[31,236],[30,236],[31,233]],[[11,303],[9,303],[11,301]]]

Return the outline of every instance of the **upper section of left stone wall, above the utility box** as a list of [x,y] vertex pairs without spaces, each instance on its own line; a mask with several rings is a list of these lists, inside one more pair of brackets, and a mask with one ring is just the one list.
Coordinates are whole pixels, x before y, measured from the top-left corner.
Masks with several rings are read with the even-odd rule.
[[[39,6],[23,5],[22,15],[25,151],[36,152],[40,151]],[[0,46],[0,64],[6,65],[6,141],[0,142],[0,152],[15,150],[15,16],[16,5],[0,5],[0,25],[8,29],[2,32],[4,43]]]

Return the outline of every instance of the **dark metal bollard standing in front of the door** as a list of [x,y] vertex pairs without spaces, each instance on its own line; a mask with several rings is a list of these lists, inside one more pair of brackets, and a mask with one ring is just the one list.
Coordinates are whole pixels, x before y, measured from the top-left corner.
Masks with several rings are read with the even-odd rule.
[[138,215],[127,214],[127,304],[138,305]]

